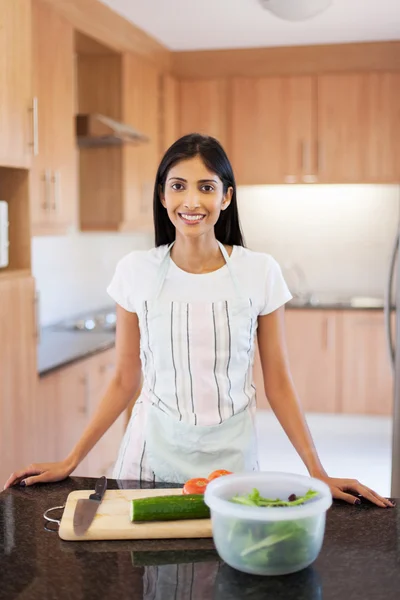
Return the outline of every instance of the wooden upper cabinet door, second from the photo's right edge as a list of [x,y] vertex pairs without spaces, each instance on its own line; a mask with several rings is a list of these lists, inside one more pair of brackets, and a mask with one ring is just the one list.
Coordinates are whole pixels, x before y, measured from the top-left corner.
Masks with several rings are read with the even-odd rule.
[[358,183],[365,177],[366,94],[361,74],[318,77],[318,179]]

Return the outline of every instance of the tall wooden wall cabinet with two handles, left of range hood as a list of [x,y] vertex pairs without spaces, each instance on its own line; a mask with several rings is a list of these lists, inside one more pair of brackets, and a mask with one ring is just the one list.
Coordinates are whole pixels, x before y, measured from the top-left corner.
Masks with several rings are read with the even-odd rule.
[[74,31],[48,4],[33,4],[36,152],[31,171],[33,233],[65,233],[76,221]]

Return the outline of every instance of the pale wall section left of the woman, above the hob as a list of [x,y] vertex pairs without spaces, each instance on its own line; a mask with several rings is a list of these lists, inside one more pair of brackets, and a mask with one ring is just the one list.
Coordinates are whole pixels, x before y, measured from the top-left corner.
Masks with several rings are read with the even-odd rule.
[[145,234],[74,233],[32,240],[32,271],[40,294],[40,322],[48,325],[112,304],[106,292],[117,261],[151,248]]

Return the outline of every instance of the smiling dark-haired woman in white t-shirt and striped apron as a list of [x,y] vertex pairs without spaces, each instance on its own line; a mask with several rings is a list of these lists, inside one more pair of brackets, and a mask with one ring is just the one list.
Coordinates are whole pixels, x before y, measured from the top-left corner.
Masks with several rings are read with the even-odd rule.
[[[335,498],[390,501],[324,471],[291,380],[277,263],[244,247],[232,167],[213,138],[175,142],[154,188],[156,247],[123,258],[108,288],[117,303],[115,376],[69,457],[31,465],[12,484],[59,481],[74,471],[143,387],[114,477],[183,483],[216,469],[258,469],[252,364],[258,336],[265,392],[310,475]],[[350,492],[350,493],[349,493]],[[356,495],[354,495],[353,493]]]

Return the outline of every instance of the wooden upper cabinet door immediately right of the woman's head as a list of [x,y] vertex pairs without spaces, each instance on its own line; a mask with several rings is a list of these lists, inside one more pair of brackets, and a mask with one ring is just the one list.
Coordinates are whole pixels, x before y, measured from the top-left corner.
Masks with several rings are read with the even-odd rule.
[[232,82],[231,157],[239,185],[281,183],[286,175],[283,79]]

